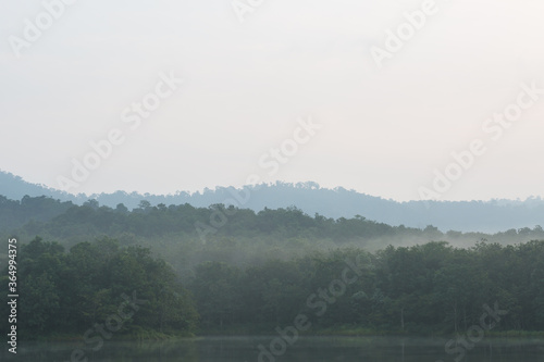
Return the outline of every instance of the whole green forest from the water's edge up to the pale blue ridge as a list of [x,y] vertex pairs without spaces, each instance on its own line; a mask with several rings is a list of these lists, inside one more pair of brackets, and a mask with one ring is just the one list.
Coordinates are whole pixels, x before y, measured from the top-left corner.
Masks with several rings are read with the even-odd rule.
[[504,311],[485,320],[496,332],[544,330],[541,227],[442,233],[296,208],[128,211],[48,198],[2,199],[0,220],[2,244],[20,244],[25,338],[92,340],[104,323],[152,338],[273,334],[298,315],[308,333],[452,334],[486,308]]

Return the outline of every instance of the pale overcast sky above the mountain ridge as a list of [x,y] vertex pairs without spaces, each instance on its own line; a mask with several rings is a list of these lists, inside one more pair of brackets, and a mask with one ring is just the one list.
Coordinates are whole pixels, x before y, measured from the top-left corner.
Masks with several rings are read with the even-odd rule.
[[73,194],[311,180],[398,201],[542,197],[543,13],[2,0],[0,170]]

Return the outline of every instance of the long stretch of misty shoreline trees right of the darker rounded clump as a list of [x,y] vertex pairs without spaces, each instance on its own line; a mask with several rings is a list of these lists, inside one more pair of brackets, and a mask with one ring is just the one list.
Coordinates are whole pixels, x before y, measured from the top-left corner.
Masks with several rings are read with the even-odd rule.
[[239,325],[274,333],[302,314],[314,332],[448,334],[480,325],[484,313],[496,332],[544,330],[543,286],[544,241],[470,249],[430,242],[271,259],[246,270],[202,263],[190,290],[201,326],[217,333]]

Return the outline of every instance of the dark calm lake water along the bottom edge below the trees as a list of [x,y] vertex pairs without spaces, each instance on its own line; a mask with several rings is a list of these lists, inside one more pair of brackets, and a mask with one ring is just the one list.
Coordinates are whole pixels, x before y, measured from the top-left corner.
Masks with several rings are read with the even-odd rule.
[[[96,362],[544,362],[542,338],[484,338],[478,344],[450,344],[448,338],[301,337],[293,345],[271,337],[205,337],[163,342],[113,342],[92,352],[75,352],[74,361]],[[260,346],[260,349],[259,349]],[[265,346],[265,347],[264,347]],[[2,351],[2,361],[65,362],[83,344],[21,344],[17,354]],[[272,348],[272,350],[270,349]],[[83,354],[84,353],[84,354]],[[465,353],[462,357],[461,354]]]

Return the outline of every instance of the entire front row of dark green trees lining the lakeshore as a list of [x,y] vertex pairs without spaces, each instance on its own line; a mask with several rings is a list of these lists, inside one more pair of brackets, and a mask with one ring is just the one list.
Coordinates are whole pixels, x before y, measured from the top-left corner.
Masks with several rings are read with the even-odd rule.
[[[86,341],[100,325],[139,336],[274,334],[304,315],[309,333],[452,334],[482,323],[495,332],[544,330],[544,241],[274,257],[247,267],[205,261],[182,284],[148,249],[103,238],[65,252],[36,238],[18,253],[17,328],[25,338]],[[8,270],[0,284],[8,286]],[[7,304],[0,313],[9,315]]]

